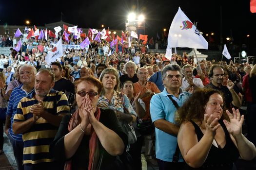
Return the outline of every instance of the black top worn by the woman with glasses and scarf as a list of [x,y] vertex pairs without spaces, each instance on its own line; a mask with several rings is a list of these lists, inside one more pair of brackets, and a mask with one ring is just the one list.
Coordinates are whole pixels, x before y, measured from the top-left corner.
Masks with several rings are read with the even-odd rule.
[[[59,170],[63,170],[65,159],[65,150],[64,150],[64,136],[69,133],[68,125],[71,119],[70,115],[66,115],[59,125],[58,133],[55,136],[53,143],[51,144],[51,152],[54,154],[55,159],[58,162]],[[119,120],[115,112],[112,109],[100,109],[100,118],[99,122],[101,122],[107,128],[113,130],[118,136],[122,139],[125,148],[128,144],[128,138],[121,127]],[[89,164],[89,139],[90,136],[84,135],[82,141],[76,151],[76,153],[72,156],[72,170],[87,170]],[[100,141],[99,151],[100,154],[103,154],[102,164],[100,170],[115,170],[113,162],[116,157],[107,153],[107,151],[103,148]]]

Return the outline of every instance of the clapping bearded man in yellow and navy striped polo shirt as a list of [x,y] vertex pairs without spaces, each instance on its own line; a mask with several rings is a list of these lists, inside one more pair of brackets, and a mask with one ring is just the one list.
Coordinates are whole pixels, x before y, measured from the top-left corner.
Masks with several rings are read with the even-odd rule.
[[13,132],[22,134],[24,141],[24,170],[56,169],[49,151],[50,143],[62,117],[69,113],[69,106],[66,95],[52,89],[54,79],[50,70],[40,70],[35,90],[20,100],[14,116]]

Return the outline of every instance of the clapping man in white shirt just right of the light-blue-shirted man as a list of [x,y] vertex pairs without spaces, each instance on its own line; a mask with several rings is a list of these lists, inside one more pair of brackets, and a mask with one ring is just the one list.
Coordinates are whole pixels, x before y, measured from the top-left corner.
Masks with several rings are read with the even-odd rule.
[[203,82],[201,79],[193,76],[193,67],[191,65],[185,65],[182,68],[184,78],[182,79],[181,88],[183,90],[189,91],[190,88],[197,90],[198,88],[203,88]]

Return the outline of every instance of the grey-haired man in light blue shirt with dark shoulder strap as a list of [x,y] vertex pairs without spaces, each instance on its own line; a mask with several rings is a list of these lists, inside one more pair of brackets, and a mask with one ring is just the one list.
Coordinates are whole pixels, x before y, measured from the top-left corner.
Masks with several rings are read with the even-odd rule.
[[[180,170],[183,159],[179,156],[178,163],[173,162],[177,148],[179,127],[175,124],[177,106],[181,106],[189,97],[188,92],[180,88],[182,70],[177,64],[167,65],[162,70],[163,92],[156,94],[150,101],[151,119],[156,126],[156,157],[159,170]],[[193,90],[191,89],[190,92]],[[172,98],[175,102],[172,102]]]

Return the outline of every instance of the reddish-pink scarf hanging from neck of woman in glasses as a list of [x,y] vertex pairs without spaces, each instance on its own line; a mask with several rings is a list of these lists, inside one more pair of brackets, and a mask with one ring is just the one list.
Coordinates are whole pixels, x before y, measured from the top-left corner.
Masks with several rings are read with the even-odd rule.
[[[99,120],[100,109],[98,107],[94,115],[95,115],[95,118]],[[69,124],[68,124],[69,132],[71,132],[75,127],[78,126],[78,118],[79,118],[79,110],[77,110],[73,114],[72,118],[69,121]],[[90,152],[89,152],[88,170],[94,170],[94,169],[97,169],[97,166],[98,166],[99,153],[98,153],[98,136],[94,131],[93,127],[91,127],[89,149],[90,149]],[[71,160],[67,161],[65,164],[64,170],[72,170],[71,165],[72,165]]]

